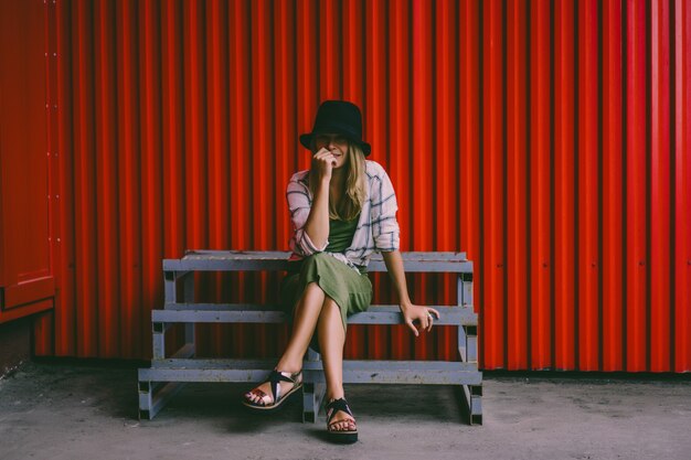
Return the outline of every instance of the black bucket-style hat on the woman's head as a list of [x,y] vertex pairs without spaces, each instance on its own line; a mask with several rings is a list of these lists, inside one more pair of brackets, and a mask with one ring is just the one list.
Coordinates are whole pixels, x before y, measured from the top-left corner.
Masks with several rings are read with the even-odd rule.
[[372,148],[362,140],[362,115],[357,105],[347,100],[325,100],[317,110],[311,132],[300,135],[300,143],[311,147],[312,136],[318,133],[344,135],[362,147],[363,153],[370,154]]

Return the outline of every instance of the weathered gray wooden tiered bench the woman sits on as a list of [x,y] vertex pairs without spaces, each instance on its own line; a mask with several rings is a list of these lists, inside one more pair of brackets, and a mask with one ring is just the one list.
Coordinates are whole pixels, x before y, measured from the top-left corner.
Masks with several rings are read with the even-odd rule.
[[[163,260],[164,304],[151,311],[153,346],[151,366],[139,370],[139,418],[153,418],[187,382],[264,381],[273,360],[195,359],[195,323],[281,323],[288,320],[279,306],[194,303],[195,271],[286,270],[289,253],[188,250],[181,259]],[[465,253],[402,253],[406,272],[458,274],[458,304],[430,306],[442,313],[435,325],[458,327],[458,361],[343,360],[343,383],[456,385],[460,409],[470,425],[482,424],[482,373],[477,365],[477,314],[472,309],[472,263]],[[370,272],[386,271],[381,255],[373,255]],[[181,289],[178,289],[180,286]],[[179,291],[182,292],[179,296]],[[166,356],[166,331],[184,324],[184,345]],[[397,306],[372,304],[353,314],[349,324],[403,324]],[[302,420],[323,414],[326,389],[318,353],[308,350],[302,367]]]

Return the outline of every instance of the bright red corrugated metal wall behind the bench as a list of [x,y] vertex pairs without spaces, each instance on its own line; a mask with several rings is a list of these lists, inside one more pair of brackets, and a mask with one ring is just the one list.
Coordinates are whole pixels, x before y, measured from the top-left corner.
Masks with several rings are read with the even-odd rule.
[[[403,250],[475,263],[483,370],[691,371],[691,4],[49,1],[59,293],[39,355],[148,357],[161,259],[286,249],[320,100],[364,111]],[[278,278],[198,276],[275,299]],[[417,302],[451,278],[411,276]],[[384,276],[376,301],[391,299]],[[201,327],[276,355],[285,327]],[[349,328],[347,355],[454,359],[454,332]]]

